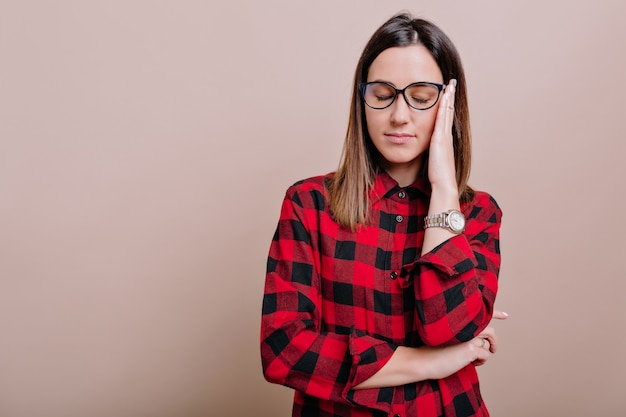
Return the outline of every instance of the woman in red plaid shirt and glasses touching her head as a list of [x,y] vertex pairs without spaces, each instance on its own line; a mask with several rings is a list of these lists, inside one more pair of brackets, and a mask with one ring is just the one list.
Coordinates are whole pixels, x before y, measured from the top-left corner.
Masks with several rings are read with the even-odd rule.
[[263,369],[294,416],[489,415],[501,211],[469,169],[456,49],[395,16],[357,65],[337,172],[289,188],[270,247]]

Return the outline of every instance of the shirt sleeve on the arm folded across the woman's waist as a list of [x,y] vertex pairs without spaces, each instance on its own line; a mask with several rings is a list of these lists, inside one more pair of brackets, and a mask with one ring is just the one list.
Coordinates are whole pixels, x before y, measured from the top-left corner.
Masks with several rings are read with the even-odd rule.
[[[334,402],[388,411],[378,390],[352,388],[374,375],[397,346],[322,323],[319,218],[315,198],[292,187],[272,240],[261,321],[261,359],[269,382]],[[315,220],[317,219],[317,220]]]

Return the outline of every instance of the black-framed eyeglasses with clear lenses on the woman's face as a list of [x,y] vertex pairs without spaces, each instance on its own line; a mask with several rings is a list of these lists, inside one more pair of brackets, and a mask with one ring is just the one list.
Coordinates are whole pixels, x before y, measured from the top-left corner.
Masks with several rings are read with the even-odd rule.
[[391,106],[398,94],[404,96],[406,103],[415,110],[427,110],[437,103],[443,84],[421,81],[409,84],[402,90],[385,81],[373,81],[361,84],[363,101],[369,107],[382,110]]

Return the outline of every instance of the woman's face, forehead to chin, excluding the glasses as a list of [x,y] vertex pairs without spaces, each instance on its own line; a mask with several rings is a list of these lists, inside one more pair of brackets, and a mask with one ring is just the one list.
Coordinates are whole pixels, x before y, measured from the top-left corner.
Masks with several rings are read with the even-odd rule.
[[[367,82],[371,81],[386,81],[403,89],[418,81],[443,84],[443,76],[423,45],[411,45],[389,48],[378,55],[367,74]],[[365,106],[367,130],[384,158],[383,168],[399,182],[415,180],[421,156],[430,144],[438,108],[439,101],[430,109],[415,110],[409,107],[402,94],[382,110]]]

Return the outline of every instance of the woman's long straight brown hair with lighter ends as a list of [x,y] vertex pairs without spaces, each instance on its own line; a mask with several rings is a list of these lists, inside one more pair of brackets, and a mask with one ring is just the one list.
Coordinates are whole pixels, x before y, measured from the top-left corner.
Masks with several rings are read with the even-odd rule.
[[[350,118],[341,161],[327,186],[333,217],[339,224],[351,230],[367,224],[370,210],[369,190],[379,170],[376,163],[379,154],[367,131],[359,85],[367,81],[369,68],[381,52],[408,45],[423,45],[430,51],[441,70],[444,84],[453,78],[457,80],[452,126],[456,180],[461,202],[470,201],[474,196],[474,191],[467,185],[471,133],[461,58],[452,41],[433,23],[414,19],[406,13],[399,14],[378,28],[361,54],[354,73]],[[427,157],[424,158],[418,175],[428,175]]]

